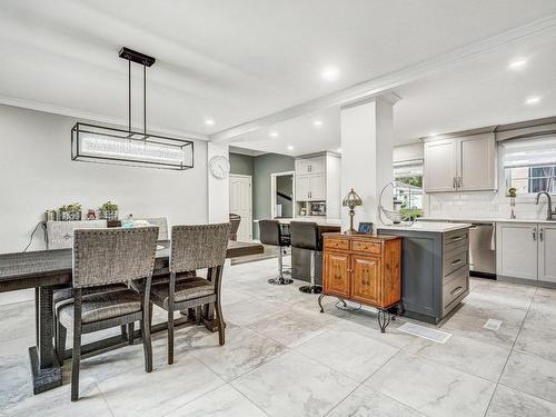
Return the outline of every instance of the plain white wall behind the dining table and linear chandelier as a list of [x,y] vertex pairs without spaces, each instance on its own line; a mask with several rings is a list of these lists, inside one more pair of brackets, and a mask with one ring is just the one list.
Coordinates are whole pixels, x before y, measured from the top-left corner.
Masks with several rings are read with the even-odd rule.
[[[71,160],[77,120],[0,106],[0,252],[22,250],[44,210],[111,200],[120,217],[166,216],[170,225],[207,221],[207,143],[195,142],[195,168],[149,169]],[[43,248],[39,230],[32,249]]]

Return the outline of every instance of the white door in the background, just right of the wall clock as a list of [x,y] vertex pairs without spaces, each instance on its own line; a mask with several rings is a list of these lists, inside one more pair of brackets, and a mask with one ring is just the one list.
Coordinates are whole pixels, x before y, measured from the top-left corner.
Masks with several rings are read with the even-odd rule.
[[239,215],[238,240],[252,240],[251,176],[230,175],[230,212]]

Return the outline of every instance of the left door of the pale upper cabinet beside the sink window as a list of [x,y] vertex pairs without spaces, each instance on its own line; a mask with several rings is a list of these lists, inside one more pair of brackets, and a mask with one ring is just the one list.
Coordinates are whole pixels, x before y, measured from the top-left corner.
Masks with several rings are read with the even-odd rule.
[[426,192],[456,191],[456,140],[435,140],[425,143],[423,186]]

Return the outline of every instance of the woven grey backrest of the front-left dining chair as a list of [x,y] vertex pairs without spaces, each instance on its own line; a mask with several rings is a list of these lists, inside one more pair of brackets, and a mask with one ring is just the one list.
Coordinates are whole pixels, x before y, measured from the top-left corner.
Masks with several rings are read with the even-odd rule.
[[152,276],[158,227],[77,229],[73,287],[129,282]]

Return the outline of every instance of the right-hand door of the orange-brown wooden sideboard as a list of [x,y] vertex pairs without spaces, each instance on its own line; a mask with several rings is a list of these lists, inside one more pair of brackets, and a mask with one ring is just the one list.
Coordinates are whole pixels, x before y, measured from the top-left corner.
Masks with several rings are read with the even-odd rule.
[[381,262],[378,257],[351,256],[353,290],[356,301],[379,306]]

